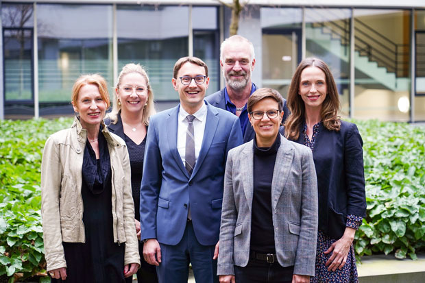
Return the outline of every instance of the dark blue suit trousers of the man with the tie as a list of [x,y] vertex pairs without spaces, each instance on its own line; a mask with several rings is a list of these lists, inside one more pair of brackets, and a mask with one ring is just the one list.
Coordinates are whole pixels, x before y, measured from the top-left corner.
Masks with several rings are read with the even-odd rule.
[[177,245],[160,243],[161,262],[156,267],[160,283],[187,283],[189,262],[196,282],[218,283],[217,260],[213,260],[215,245],[201,245],[193,231],[192,222],[186,223],[182,240]]

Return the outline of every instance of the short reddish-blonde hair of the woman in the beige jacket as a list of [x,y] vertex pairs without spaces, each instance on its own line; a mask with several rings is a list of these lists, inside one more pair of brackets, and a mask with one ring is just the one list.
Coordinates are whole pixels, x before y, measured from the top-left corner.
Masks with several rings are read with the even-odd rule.
[[108,93],[108,83],[106,79],[99,74],[85,74],[80,75],[78,79],[75,80],[75,83],[72,88],[71,101],[74,106],[77,106],[78,93],[80,89],[87,84],[93,84],[99,88],[100,97],[106,103],[106,108],[110,106],[109,93]]

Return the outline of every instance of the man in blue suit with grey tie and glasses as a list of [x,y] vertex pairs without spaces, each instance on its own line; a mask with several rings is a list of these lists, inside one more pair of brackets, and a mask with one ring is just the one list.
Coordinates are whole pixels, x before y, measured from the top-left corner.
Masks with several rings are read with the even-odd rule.
[[141,185],[143,257],[159,282],[218,282],[217,254],[228,151],[241,145],[236,116],[204,101],[206,64],[180,58],[173,71],[180,105],[151,117]]

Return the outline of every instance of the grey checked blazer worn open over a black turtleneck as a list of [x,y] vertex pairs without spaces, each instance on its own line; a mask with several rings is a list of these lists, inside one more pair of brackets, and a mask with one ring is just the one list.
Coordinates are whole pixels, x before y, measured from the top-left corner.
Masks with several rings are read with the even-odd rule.
[[[282,267],[315,274],[317,177],[311,149],[279,134],[281,143],[271,181],[274,243]],[[230,150],[224,177],[217,275],[233,275],[250,258],[253,140]]]

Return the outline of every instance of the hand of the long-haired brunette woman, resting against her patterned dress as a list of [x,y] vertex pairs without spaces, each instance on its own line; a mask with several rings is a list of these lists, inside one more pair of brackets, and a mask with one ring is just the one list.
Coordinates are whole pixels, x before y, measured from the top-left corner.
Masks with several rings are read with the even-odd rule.
[[326,267],[329,266],[328,271],[335,271],[337,268],[343,268],[345,262],[347,262],[348,251],[350,251],[350,246],[353,243],[355,233],[355,229],[345,227],[343,236],[324,252],[325,254],[329,254],[331,251],[333,251],[332,255],[325,264]]

